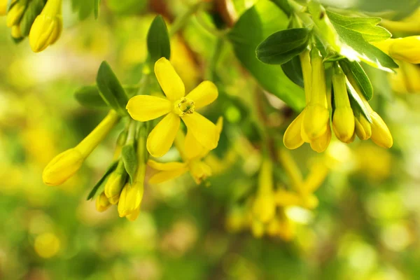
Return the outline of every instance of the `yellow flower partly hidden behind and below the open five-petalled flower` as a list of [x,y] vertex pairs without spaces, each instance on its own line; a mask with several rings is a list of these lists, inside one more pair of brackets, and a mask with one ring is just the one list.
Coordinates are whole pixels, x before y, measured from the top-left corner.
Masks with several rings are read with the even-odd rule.
[[[219,118],[216,123],[216,130],[218,135],[221,134],[223,128],[223,118]],[[202,146],[193,133],[187,132],[183,141],[184,145],[179,147],[180,153],[184,162],[156,162],[149,160],[148,165],[159,172],[151,176],[149,183],[162,183],[175,179],[186,172],[190,172],[195,183],[200,184],[204,179],[211,176],[211,168],[206,163],[202,162],[202,158],[210,152]]]

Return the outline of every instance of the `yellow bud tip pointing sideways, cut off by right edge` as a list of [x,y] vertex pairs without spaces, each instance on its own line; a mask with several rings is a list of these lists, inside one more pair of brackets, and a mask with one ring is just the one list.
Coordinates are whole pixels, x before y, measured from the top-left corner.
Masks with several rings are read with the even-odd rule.
[[420,36],[391,39],[389,55],[409,63],[420,63]]

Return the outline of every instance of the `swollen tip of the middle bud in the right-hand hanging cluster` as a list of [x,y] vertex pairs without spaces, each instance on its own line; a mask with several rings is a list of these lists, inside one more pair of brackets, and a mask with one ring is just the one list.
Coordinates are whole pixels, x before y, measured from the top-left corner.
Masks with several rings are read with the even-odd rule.
[[354,116],[351,107],[335,109],[332,117],[332,130],[339,141],[348,143],[354,134]]

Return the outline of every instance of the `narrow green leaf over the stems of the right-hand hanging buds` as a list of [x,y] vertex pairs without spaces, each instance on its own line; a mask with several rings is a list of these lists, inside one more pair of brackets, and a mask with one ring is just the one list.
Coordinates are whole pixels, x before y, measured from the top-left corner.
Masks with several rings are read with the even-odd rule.
[[[357,83],[365,99],[367,101],[372,99],[372,83],[370,83],[370,79],[367,76],[365,70],[363,70],[362,66],[360,66],[358,62],[349,62],[347,59],[340,60],[339,65],[342,67],[347,77],[350,76],[354,78],[354,81]],[[349,80],[351,80],[351,78],[349,78]]]

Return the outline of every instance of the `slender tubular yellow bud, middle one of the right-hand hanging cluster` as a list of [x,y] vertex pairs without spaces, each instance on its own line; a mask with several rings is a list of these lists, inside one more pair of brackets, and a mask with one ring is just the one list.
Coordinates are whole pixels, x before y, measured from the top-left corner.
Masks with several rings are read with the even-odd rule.
[[354,134],[354,116],[346,88],[346,76],[339,65],[335,64],[332,74],[335,111],[332,116],[332,129],[339,141],[347,143]]

